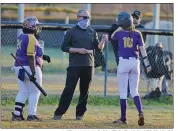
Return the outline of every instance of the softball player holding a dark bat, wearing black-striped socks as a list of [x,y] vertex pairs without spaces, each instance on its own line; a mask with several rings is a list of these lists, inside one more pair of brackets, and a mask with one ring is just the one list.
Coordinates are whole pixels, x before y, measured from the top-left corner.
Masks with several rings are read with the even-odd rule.
[[28,98],[28,117],[29,121],[36,121],[39,118],[36,116],[37,104],[40,96],[40,91],[31,82],[36,80],[39,85],[42,85],[42,48],[35,38],[34,34],[39,32],[38,19],[30,16],[23,21],[23,34],[17,39],[16,58],[21,62],[23,67],[31,73],[29,78],[24,70],[15,61],[13,69],[17,75],[19,91],[15,99],[15,109],[12,112],[12,121],[24,120],[23,107]]

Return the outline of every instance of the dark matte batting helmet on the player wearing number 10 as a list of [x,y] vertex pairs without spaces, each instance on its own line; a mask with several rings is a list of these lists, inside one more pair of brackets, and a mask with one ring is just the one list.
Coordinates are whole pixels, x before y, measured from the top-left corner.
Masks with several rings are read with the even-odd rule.
[[128,12],[121,12],[117,17],[118,23],[122,28],[129,28],[133,26],[132,15]]

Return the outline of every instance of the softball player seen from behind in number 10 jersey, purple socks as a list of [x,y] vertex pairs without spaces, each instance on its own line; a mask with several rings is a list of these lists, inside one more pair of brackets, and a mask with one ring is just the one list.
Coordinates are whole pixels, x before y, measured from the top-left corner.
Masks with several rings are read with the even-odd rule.
[[139,49],[143,56],[147,72],[151,70],[147,54],[144,48],[144,42],[140,31],[133,29],[133,18],[127,12],[121,12],[118,15],[118,28],[111,36],[118,40],[119,65],[117,69],[118,87],[120,92],[121,118],[113,123],[127,124],[127,85],[129,80],[130,93],[134,98],[134,103],[139,113],[138,125],[144,125],[144,115],[142,103],[138,93],[138,84],[140,76]]

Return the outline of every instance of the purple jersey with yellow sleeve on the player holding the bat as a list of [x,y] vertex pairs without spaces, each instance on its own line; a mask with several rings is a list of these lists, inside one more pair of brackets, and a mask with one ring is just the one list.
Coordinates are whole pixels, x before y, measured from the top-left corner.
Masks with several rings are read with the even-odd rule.
[[[16,57],[23,66],[29,66],[28,56],[35,56],[36,65],[40,65],[40,57],[43,56],[42,48],[34,35],[21,34],[17,38]],[[17,61],[15,61],[15,66],[18,66]]]

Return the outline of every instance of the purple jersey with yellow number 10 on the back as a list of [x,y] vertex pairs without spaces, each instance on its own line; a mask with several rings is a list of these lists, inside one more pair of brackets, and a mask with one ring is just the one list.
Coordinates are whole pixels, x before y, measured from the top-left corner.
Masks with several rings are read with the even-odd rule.
[[144,45],[140,31],[134,29],[130,32],[118,28],[111,37],[118,40],[119,57],[139,57],[139,46]]

